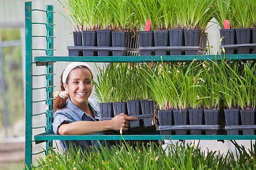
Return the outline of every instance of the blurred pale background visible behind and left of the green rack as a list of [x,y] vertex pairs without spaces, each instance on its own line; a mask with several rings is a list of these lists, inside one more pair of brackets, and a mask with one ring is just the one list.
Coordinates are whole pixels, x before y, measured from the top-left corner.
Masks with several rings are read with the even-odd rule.
[[[24,167],[24,143],[25,143],[25,113],[24,113],[24,2],[23,0],[0,0],[0,169],[19,169]],[[54,14],[54,56],[68,56],[67,46],[73,45],[72,25],[64,18],[66,12],[57,0],[33,0],[32,8],[46,10],[46,5],[53,5],[56,13]],[[46,16],[42,12],[33,12],[32,22],[46,22]],[[212,54],[217,54],[220,45],[220,33],[218,25],[208,24],[209,45],[213,46]],[[34,25],[33,35],[46,35],[44,25]],[[33,39],[33,48],[46,48],[46,41],[43,38]],[[33,52],[33,56],[46,56],[45,52]],[[59,90],[60,74],[68,62],[54,63],[54,84]],[[90,63],[96,69],[94,63]],[[102,63],[97,63],[102,66]],[[33,65],[33,74],[45,73],[44,66]],[[94,73],[96,74],[96,73]],[[45,84],[44,78],[34,78],[33,87],[40,87]],[[46,96],[45,90],[38,90],[33,94],[33,100],[40,100]],[[92,95],[91,97],[96,97]],[[40,113],[46,109],[45,104],[33,105],[33,112]],[[36,117],[32,120],[33,126],[46,125],[46,118]],[[43,129],[33,130],[33,135],[44,132]],[[170,142],[170,141],[166,141]],[[173,141],[176,142],[176,141]],[[191,142],[191,141],[188,141]],[[198,142],[198,141],[197,141]],[[57,141],[56,141],[57,143]],[[246,147],[250,146],[250,141],[238,141]],[[234,150],[232,143],[217,141],[200,141],[201,148],[221,150],[226,152]],[[33,152],[42,151],[45,143],[33,145]],[[34,156],[35,158],[37,156]],[[33,162],[35,162],[33,158]]]

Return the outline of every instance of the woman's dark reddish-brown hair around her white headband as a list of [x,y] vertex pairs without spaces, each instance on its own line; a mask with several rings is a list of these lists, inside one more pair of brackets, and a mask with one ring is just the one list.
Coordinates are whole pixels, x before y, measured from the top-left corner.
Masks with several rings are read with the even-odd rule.
[[[74,67],[72,70],[83,69],[83,68],[88,69],[88,70],[90,71],[90,74],[92,75],[92,79],[93,79],[92,71],[91,71],[88,67],[86,67],[86,66],[84,66],[84,65],[76,66],[76,67]],[[72,71],[72,70],[71,70],[71,71]],[[63,72],[64,72],[64,70],[63,70]],[[63,77],[63,72],[62,72],[61,75],[60,75],[60,91],[65,91],[65,88],[64,88],[63,82],[62,82],[62,81],[63,81],[63,79],[62,79],[62,77]],[[67,76],[67,79],[66,79],[65,84],[68,84],[68,80],[69,80],[69,74],[68,74],[68,76]],[[53,100],[53,110],[54,110],[54,111],[57,111],[57,110],[63,109],[63,108],[65,107],[65,105],[66,105],[66,102],[67,102],[66,99],[63,99],[63,98],[61,98],[60,96],[57,96],[56,99]]]

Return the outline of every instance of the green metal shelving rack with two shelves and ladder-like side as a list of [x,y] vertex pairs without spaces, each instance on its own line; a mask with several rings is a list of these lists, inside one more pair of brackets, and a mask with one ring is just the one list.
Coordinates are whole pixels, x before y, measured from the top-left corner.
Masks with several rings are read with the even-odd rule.
[[[46,23],[32,23],[32,11],[45,12],[47,15]],[[26,18],[26,151],[25,151],[25,165],[32,163],[32,155],[40,154],[32,153],[32,142],[36,144],[46,142],[46,151],[48,147],[52,147],[53,140],[122,140],[121,135],[102,135],[101,133],[89,134],[89,135],[55,135],[52,132],[52,112],[53,112],[53,98],[52,88],[53,86],[53,63],[54,62],[71,62],[71,61],[84,61],[84,62],[152,62],[152,61],[197,61],[204,60],[221,60],[221,59],[240,59],[240,60],[255,60],[256,54],[234,54],[234,55],[209,55],[209,56],[111,56],[111,57],[81,57],[81,56],[53,56],[53,6],[47,5],[47,10],[32,10],[31,2],[25,3],[25,18]],[[32,25],[33,24],[44,24],[46,25],[46,36],[32,36]],[[32,37],[46,37],[47,49],[33,49],[32,48]],[[44,50],[46,56],[34,57],[32,56],[33,50]],[[46,74],[33,75],[32,65],[46,66]],[[45,88],[47,92],[47,99],[40,101],[32,100],[32,91],[38,90],[39,88],[32,88],[32,79],[34,76],[46,76],[47,84]],[[32,104],[45,102],[47,105],[47,111],[43,113],[33,113]],[[41,114],[46,115],[47,124],[46,126],[33,127],[32,117]],[[32,135],[32,129],[44,128],[45,133]],[[34,138],[34,140],[33,140]],[[256,135],[160,135],[159,131],[148,134],[138,135],[123,135],[126,140],[256,140]]]

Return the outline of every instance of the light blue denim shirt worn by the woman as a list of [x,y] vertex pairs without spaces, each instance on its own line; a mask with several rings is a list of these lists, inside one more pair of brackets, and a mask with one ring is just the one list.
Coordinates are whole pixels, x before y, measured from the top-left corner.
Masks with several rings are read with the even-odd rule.
[[[85,113],[81,109],[79,109],[75,104],[72,103],[71,100],[68,99],[65,108],[62,110],[56,111],[53,114],[53,133],[59,134],[58,130],[61,124],[66,123],[70,124],[76,121],[96,121],[96,119],[100,119],[100,104],[97,99],[88,99],[89,107],[94,114],[95,119],[89,114]],[[89,128],[89,127],[88,127]],[[97,147],[100,149],[98,142],[101,143],[102,146],[105,146],[105,141],[60,141],[60,145],[63,148],[67,148],[69,150],[69,142],[71,142],[72,148],[81,147],[82,151],[90,150],[90,146]]]

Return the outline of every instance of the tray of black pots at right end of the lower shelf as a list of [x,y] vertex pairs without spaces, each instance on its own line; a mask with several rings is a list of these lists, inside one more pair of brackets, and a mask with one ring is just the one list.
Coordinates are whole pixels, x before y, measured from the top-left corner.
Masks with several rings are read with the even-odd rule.
[[255,135],[255,110],[225,109],[228,135]]

